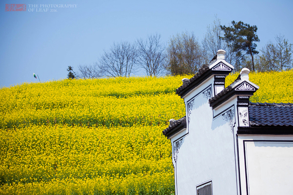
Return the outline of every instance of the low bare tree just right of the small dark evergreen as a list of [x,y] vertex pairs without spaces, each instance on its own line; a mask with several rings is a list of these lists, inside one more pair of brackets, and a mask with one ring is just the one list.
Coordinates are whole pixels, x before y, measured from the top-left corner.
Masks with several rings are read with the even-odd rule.
[[79,65],[78,70],[78,77],[80,78],[99,78],[104,76],[98,63],[94,63],[93,65]]

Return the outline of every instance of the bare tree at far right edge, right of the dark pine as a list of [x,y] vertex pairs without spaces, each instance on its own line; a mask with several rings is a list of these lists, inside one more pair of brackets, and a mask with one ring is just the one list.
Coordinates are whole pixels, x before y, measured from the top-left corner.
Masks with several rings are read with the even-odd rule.
[[280,71],[287,68],[292,68],[292,44],[284,36],[277,35],[275,37],[276,43],[269,42],[262,48],[262,55],[260,59],[266,70]]

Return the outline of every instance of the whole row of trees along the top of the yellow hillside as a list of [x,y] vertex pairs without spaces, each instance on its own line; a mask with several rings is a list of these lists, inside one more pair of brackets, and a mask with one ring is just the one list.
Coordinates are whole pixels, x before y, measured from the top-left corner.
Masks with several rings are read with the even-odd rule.
[[[234,66],[234,72],[247,67],[252,71],[282,71],[293,68],[292,44],[281,34],[275,42],[268,42],[259,51],[259,38],[255,25],[232,21],[221,25],[216,17],[207,27],[207,33],[200,43],[193,32],[182,32],[163,43],[160,34],[137,39],[134,43],[122,41],[113,43],[104,50],[98,62],[79,65],[78,72],[68,66],[68,78],[129,77],[138,69],[147,76],[195,74],[208,65],[219,49],[226,51],[225,59]],[[258,55],[259,54],[259,55]]]

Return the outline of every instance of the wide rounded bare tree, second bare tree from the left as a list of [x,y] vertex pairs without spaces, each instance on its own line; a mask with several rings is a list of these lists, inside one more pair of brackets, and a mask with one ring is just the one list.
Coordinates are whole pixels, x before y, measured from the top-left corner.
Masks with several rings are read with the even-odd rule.
[[100,59],[100,68],[105,76],[130,76],[137,59],[137,50],[128,42],[114,43]]

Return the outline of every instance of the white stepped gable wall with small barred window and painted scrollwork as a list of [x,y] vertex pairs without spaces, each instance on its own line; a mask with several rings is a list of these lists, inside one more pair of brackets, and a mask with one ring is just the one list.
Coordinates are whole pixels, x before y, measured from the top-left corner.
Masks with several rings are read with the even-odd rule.
[[[234,108],[232,122],[235,125],[236,107],[230,102],[229,105],[221,107],[221,111],[215,116],[209,107],[210,97],[204,94],[210,87],[213,95],[213,85],[210,86],[210,83],[213,83],[213,78],[185,98],[188,130],[184,136],[180,134],[183,139],[177,153],[177,162],[173,158],[177,195],[194,195],[196,186],[209,180],[212,180],[214,195],[237,194],[235,134],[229,125],[230,121],[222,116],[230,108]],[[190,109],[188,103],[192,101]],[[178,138],[180,137],[176,136],[171,139],[172,152]]]

